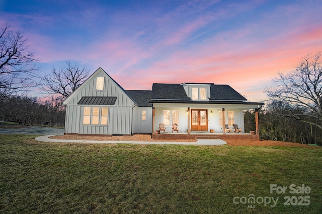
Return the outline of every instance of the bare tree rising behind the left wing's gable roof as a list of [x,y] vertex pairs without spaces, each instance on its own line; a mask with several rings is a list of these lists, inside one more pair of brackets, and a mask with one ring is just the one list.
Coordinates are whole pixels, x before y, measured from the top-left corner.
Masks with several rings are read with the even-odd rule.
[[70,61],[66,65],[59,70],[53,68],[51,74],[41,78],[41,87],[46,93],[67,97],[88,78],[86,66],[72,65]]

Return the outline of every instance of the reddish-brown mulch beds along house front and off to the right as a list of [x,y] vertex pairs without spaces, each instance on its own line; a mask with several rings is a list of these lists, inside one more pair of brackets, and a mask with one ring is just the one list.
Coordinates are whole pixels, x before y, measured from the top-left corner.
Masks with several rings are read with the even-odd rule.
[[[79,136],[79,135],[57,135],[50,137],[52,139],[63,140],[92,140],[92,141],[164,141],[151,139],[150,135],[137,134],[133,136]],[[195,142],[194,140],[171,140],[172,142]],[[289,143],[282,141],[270,140],[225,140],[229,146],[286,146],[286,147],[306,147],[306,148],[320,148],[319,146],[309,146],[306,144]]]

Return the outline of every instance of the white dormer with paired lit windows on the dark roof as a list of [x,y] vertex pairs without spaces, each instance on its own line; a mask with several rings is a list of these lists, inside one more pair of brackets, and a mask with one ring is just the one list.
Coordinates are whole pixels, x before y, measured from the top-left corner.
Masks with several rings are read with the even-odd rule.
[[193,101],[209,101],[210,83],[183,83],[187,96]]

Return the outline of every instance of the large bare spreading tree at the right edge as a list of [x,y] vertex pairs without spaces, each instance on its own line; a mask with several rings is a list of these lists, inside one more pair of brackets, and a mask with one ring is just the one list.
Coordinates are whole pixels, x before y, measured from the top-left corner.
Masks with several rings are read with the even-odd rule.
[[321,63],[321,52],[307,55],[294,71],[279,73],[274,86],[265,89],[272,102],[280,101],[291,106],[285,108],[280,117],[291,117],[322,130]]

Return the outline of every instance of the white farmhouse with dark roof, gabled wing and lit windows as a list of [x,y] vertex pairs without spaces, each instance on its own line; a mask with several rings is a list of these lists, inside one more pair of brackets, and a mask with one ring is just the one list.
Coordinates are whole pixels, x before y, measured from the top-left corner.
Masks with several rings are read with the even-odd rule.
[[[257,113],[264,104],[248,102],[229,85],[213,83],[153,83],[152,90],[124,90],[102,68],[63,103],[65,134],[107,136],[152,134],[160,123],[167,133],[175,123],[184,134],[210,130],[225,134],[225,124],[245,130],[243,111]],[[258,120],[256,124],[258,129]]]

